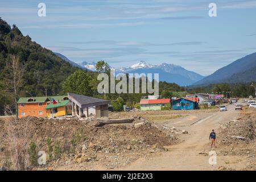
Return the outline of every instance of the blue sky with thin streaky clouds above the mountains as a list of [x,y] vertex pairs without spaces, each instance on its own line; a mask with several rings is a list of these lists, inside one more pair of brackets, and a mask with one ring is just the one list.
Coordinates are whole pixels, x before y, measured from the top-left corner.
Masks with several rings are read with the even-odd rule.
[[[46,4],[46,17],[38,4]],[[209,17],[209,3],[217,17]],[[172,63],[209,75],[256,52],[256,1],[1,1],[0,16],[70,60]]]

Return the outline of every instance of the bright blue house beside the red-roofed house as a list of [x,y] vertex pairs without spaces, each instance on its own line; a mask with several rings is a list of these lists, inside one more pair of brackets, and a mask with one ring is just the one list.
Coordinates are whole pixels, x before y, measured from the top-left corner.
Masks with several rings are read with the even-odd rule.
[[172,101],[172,109],[174,110],[193,110],[197,108],[198,102],[193,98],[178,98]]

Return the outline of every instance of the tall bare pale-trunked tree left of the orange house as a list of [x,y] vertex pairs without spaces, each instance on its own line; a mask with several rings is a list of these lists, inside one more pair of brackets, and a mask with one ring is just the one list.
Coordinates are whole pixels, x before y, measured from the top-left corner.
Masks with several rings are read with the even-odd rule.
[[15,100],[15,114],[18,117],[18,93],[19,89],[23,84],[23,74],[24,74],[24,66],[19,63],[18,57],[16,55],[10,56],[10,61],[6,63],[6,71],[7,75],[5,77],[5,86],[7,92],[11,92],[14,95]]

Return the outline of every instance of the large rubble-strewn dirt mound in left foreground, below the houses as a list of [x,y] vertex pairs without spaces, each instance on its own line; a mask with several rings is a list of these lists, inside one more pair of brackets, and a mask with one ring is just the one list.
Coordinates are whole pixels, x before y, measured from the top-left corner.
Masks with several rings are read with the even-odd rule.
[[[11,169],[10,119],[0,120],[0,166]],[[34,169],[95,169],[95,166],[111,169],[125,166],[138,158],[147,158],[155,152],[164,151],[163,146],[178,142],[174,135],[165,133],[150,122],[139,127],[134,127],[134,123],[102,127],[94,125],[93,119],[81,121],[27,117],[14,122],[13,127],[17,131],[28,131],[26,135],[17,137],[26,137],[28,143],[35,142],[36,151],[49,151],[47,139],[51,139],[51,160],[48,159],[46,166]],[[55,157],[56,145],[59,146],[59,157]]]

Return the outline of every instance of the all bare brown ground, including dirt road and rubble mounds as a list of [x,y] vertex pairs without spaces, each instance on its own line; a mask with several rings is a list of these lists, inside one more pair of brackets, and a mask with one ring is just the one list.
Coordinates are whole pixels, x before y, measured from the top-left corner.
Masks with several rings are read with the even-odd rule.
[[[38,151],[48,151],[47,138],[53,148],[60,143],[60,158],[53,154],[45,166],[32,170],[255,170],[256,111],[227,108],[114,112],[110,118],[135,121],[101,127],[94,118],[0,118],[0,167],[12,169],[9,124],[14,123],[18,138],[34,141]],[[26,136],[20,132],[24,129]],[[209,147],[212,129],[217,134],[214,148]],[[216,165],[208,163],[212,150]]]

